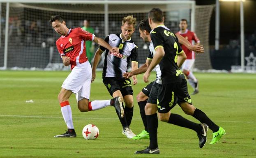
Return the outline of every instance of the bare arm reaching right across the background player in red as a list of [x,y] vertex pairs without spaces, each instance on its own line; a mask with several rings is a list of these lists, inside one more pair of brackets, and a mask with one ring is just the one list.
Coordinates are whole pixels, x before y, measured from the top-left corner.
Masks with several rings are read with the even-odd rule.
[[205,49],[203,48],[203,46],[200,46],[200,43],[196,43],[193,46],[185,37],[181,36],[178,33],[176,33],[175,35],[178,38],[179,43],[189,48],[189,50],[193,50],[196,53],[204,53]]

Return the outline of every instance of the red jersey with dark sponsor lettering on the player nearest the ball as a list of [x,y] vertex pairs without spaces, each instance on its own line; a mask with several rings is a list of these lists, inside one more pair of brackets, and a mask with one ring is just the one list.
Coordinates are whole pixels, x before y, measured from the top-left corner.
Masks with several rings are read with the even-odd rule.
[[86,57],[85,41],[93,41],[95,35],[80,27],[69,29],[66,36],[56,41],[60,56],[70,57],[71,70],[79,64],[88,61]]

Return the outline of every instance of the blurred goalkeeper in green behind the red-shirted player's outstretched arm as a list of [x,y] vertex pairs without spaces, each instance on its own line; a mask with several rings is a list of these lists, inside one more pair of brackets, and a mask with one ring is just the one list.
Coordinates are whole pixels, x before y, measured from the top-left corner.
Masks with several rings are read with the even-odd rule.
[[[90,32],[91,34],[94,34],[94,29],[90,27],[90,21],[88,19],[85,19],[83,21],[83,30]],[[90,64],[92,64],[92,58],[94,53],[94,42],[93,41],[85,41],[86,46],[86,56],[88,58],[88,61]]]

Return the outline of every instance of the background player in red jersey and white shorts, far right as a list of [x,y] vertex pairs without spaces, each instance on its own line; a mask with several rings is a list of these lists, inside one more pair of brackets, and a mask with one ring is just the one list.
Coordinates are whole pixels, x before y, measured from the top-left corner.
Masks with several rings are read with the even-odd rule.
[[[177,34],[180,34],[183,37],[185,37],[191,44],[192,44],[192,40],[194,40],[196,42],[196,44],[195,44],[196,46],[200,45],[200,40],[198,39],[196,34],[187,29],[187,20],[186,19],[181,19],[179,26],[180,26],[180,31],[177,32]],[[189,48],[187,48],[184,45],[181,45],[181,47],[184,50],[185,54],[187,55],[187,59],[182,64],[181,69],[182,69],[183,73],[185,74],[185,76],[187,77],[189,84],[194,88],[194,92],[192,93],[192,95],[197,94],[199,92],[198,91],[198,80],[192,73],[192,69],[191,69],[195,62],[195,53],[194,53],[194,51],[189,50]]]

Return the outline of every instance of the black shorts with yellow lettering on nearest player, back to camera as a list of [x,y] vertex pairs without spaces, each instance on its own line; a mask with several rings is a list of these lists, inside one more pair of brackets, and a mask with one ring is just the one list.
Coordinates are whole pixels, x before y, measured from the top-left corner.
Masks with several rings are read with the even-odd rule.
[[187,80],[162,85],[157,96],[157,109],[159,113],[169,112],[177,103],[187,102],[192,105],[187,91]]

